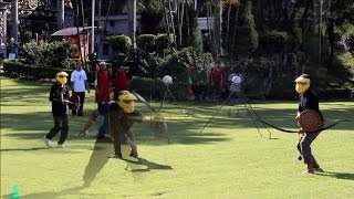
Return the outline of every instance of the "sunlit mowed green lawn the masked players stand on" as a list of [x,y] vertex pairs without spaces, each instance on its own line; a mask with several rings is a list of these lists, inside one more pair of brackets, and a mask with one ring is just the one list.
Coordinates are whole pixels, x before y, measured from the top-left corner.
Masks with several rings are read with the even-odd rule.
[[[113,145],[95,142],[96,126],[87,137],[77,137],[95,107],[94,92],[87,95],[85,116],[70,119],[67,148],[44,148],[42,137],[53,125],[49,90],[50,84],[1,76],[2,198],[9,198],[13,185],[20,198],[35,199],[354,197],[353,122],[320,134],[312,149],[324,171],[304,175],[298,134],[258,124],[259,133],[247,112],[250,107],[225,105],[199,134],[220,103],[165,102],[168,138],[135,124],[139,158],[127,157],[124,146],[122,160],[107,158]],[[158,108],[159,102],[153,106]],[[296,127],[295,100],[251,106],[271,124]],[[137,107],[150,114],[143,104]],[[321,102],[320,107],[326,125],[354,119],[354,102]]]

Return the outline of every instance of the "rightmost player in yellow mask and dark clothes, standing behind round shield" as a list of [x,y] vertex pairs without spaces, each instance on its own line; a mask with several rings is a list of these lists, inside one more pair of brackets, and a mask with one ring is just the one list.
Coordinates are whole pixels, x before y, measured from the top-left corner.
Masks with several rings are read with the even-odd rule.
[[[302,112],[312,109],[320,115],[323,125],[323,116],[319,107],[319,96],[310,90],[310,76],[308,74],[302,74],[294,82],[295,91],[299,93],[299,108],[295,118],[299,119]],[[321,130],[304,132],[300,128],[301,137],[298,143],[298,150],[302,155],[304,164],[308,166],[305,170],[306,174],[314,174],[314,170],[320,169],[320,165],[311,153],[311,144],[320,132]]]

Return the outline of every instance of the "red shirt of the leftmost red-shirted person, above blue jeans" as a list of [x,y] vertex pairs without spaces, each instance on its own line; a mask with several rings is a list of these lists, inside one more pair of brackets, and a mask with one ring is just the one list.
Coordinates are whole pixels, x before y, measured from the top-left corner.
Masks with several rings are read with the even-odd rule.
[[96,103],[110,102],[110,73],[108,71],[97,71]]

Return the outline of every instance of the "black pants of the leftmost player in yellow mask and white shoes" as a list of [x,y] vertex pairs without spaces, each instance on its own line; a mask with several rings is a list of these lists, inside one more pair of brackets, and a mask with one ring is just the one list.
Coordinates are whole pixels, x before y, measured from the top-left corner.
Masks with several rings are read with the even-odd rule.
[[53,116],[54,127],[46,134],[46,138],[52,139],[60,130],[60,138],[58,140],[58,145],[62,145],[65,143],[69,130],[69,122],[67,115],[64,116]]

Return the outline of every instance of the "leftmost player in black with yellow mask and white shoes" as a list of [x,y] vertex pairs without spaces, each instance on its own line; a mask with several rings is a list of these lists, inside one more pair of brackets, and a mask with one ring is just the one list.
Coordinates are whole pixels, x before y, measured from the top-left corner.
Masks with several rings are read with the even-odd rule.
[[65,148],[64,143],[67,137],[69,121],[66,115],[66,104],[70,98],[69,87],[65,85],[67,82],[67,73],[56,73],[56,82],[51,86],[49,101],[52,102],[52,115],[54,127],[43,137],[46,148],[51,148],[51,139],[59,133],[58,148]]

